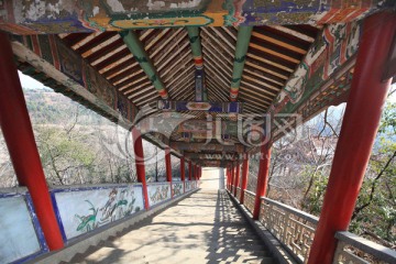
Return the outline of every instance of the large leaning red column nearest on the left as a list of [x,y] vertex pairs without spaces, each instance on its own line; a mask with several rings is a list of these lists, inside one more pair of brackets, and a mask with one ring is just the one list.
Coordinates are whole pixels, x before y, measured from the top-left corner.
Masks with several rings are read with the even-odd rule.
[[51,201],[10,41],[0,32],[0,127],[18,182],[26,186],[50,250],[64,246]]

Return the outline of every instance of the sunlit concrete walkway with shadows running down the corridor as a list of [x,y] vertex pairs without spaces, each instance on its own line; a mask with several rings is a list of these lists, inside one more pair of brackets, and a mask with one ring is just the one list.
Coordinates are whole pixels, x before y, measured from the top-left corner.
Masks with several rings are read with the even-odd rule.
[[[204,183],[218,170],[204,170]],[[208,180],[207,183],[215,183]],[[209,184],[208,184],[209,185]],[[208,186],[209,187],[209,186]],[[228,194],[200,189],[70,263],[275,263]]]

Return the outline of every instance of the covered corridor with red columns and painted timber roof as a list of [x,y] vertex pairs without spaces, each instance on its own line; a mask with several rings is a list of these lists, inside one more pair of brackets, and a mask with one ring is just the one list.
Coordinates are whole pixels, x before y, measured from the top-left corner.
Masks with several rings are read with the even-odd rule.
[[[348,232],[396,79],[394,0],[55,2],[0,1],[0,264],[395,263]],[[124,132],[127,179],[48,184],[18,69]],[[320,216],[270,199],[274,143],[343,102]]]

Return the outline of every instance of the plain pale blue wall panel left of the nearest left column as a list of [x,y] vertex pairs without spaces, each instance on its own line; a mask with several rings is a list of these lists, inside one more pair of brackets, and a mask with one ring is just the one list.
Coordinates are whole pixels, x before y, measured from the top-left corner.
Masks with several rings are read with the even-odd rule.
[[0,263],[21,262],[47,251],[26,191],[0,193]]

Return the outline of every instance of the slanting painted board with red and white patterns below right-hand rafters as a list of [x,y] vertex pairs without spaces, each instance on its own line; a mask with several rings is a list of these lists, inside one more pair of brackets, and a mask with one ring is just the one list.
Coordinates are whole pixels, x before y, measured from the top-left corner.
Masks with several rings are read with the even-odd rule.
[[309,48],[274,103],[272,113],[292,113],[358,51],[361,22],[331,24]]

